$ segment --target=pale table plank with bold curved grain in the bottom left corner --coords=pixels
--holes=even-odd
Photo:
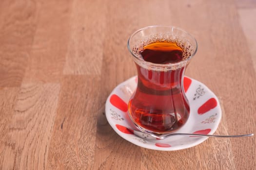
[[[13,113],[5,115],[9,120],[2,137],[8,149],[1,154],[7,167],[45,169],[58,96],[59,85],[21,86]]]

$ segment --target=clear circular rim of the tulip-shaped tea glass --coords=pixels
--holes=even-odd
[[[179,31],[181,31],[181,32],[183,32],[183,33],[185,33],[185,34],[187,34],[188,36],[190,36],[190,37],[195,41],[195,43],[196,43],[195,50],[193,51],[193,53],[192,53],[188,58],[186,58],[185,60],[181,60],[181,61],[179,61],[179,62],[177,62],[177,63],[156,64],[156,63],[151,63],[151,62],[145,61],[145,60],[143,60],[142,58],[139,58],[139,57],[131,50],[131,48],[130,48],[130,40],[131,40],[131,38],[132,38],[135,34],[141,32],[141,31],[143,31],[143,30],[147,30],[147,29],[149,29],[149,28],[156,28],[156,27],[158,27],[158,28],[160,28],[160,27],[162,27],[162,28],[171,28],[172,30],[173,30],[173,29],[176,29],[176,30],[179,30]],[[128,39],[128,41],[127,41],[127,48],[128,48],[128,50],[130,51],[130,53],[133,55],[133,58],[135,59],[135,62],[136,62],[136,63],[138,63],[138,62],[143,62],[144,65],[151,66],[151,67],[154,67],[154,68],[163,68],[163,67],[164,67],[164,68],[172,68],[172,67],[177,67],[177,66],[179,66],[179,65],[185,65],[185,64],[197,53],[197,40],[196,40],[196,38],[195,38],[194,36],[192,36],[191,34],[189,34],[188,32],[186,32],[185,30],[183,30],[183,29],[181,29],[181,28],[179,28],[179,27],[176,27],[176,26],[151,25],[151,26],[143,27],[143,28],[138,29],[137,31],[135,31],[135,32],[129,37],[129,39]]]

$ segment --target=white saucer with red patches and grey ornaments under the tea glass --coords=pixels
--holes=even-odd
[[[119,136],[143,148],[175,151],[202,143],[208,137],[173,136],[150,141],[135,136],[128,129],[136,129],[128,115],[127,103],[137,87],[137,76],[119,84],[106,101],[106,117]],[[177,133],[214,134],[221,119],[221,109],[216,95],[206,85],[184,78],[184,89],[190,104],[190,116]]]

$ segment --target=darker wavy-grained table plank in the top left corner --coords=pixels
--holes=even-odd
[[[30,0],[0,3],[0,86],[19,87],[36,31],[36,4]]]

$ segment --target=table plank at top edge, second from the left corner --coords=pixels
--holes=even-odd
[[[69,5],[68,0],[37,3],[37,27],[24,83],[60,82],[70,36]]]

